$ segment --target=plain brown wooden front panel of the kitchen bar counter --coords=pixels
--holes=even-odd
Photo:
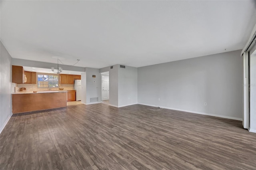
[[[12,113],[40,111],[67,106],[67,93],[13,94]]]

